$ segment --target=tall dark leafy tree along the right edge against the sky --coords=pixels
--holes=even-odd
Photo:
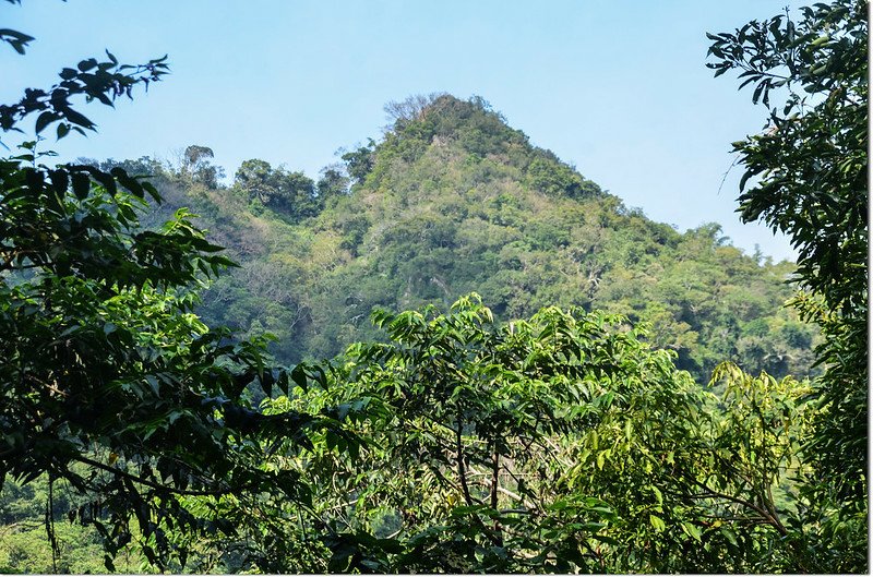
[[[822,327],[816,396],[822,413],[810,446],[830,503],[823,536],[847,560],[868,562],[868,2],[835,0],[710,35],[716,75],[742,71],[741,86],[770,110],[762,134],[734,143],[745,167],[740,214],[787,233],[798,249],[793,300]],[[774,92],[775,91],[775,92]],[[836,503],[842,501],[841,505]],[[824,541],[828,543],[828,541]],[[820,544],[818,546],[828,546]]]

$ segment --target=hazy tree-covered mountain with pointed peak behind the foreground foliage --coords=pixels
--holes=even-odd
[[[500,320],[548,304],[629,315],[706,383],[726,359],[757,373],[810,373],[814,330],[782,306],[788,262],[745,255],[708,224],[679,232],[534,146],[481,98],[386,106],[383,139],[318,182],[252,159],[229,188],[211,151],[156,173],[167,204],[201,215],[241,266],[204,293],[207,324],[272,333],[284,362],[331,358],[378,337],[374,306],[449,305],[476,291]],[[105,164],[110,168],[113,163]]]

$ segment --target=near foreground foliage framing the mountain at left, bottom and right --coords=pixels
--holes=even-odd
[[[136,206],[156,191],[123,170],[38,165],[28,144],[0,163],[0,467],[20,482],[4,500],[44,484],[52,570],[83,567],[80,550],[58,565],[60,538],[77,529],[56,525],[58,506],[101,531],[108,566],[135,542],[174,569],[220,555],[224,568],[267,572],[864,570],[866,293],[852,273],[866,272],[865,7],[838,0],[799,26],[714,38],[721,69],[757,82],[755,99],[777,64],[826,95],[809,108],[789,98],[784,116],[797,117],[774,112],[776,130],[738,146],[762,177],[744,215],[803,250],[811,296],[799,302],[829,337],[814,388],[721,364],[716,397],[623,317],[546,308],[500,324],[476,297],[447,314],[379,313],[386,342],[274,372],[259,342],[235,345],[191,314],[201,281],[229,263],[186,213],[143,231]],[[23,51],[29,37],[10,32],[0,39]],[[774,49],[790,58],[768,60]],[[154,80],[162,62],[139,72]],[[69,97],[129,94],[136,73],[117,68],[109,55],[65,69],[51,91],[1,107],[0,125],[38,112],[37,132],[93,128]],[[411,146],[395,152],[421,152]],[[189,168],[214,185],[204,155],[192,151]],[[558,194],[594,192],[575,184]],[[253,195],[279,206],[280,188]],[[286,395],[263,412],[247,401],[249,385],[268,396],[274,384]],[[4,501],[4,519],[26,525],[31,505]],[[28,531],[0,539],[12,545],[3,567],[31,567],[8,553],[29,546],[15,546]]]

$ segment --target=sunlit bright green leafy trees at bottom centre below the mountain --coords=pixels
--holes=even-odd
[[[808,385],[726,364],[719,399],[644,332],[581,309],[498,324],[473,294],[373,317],[387,342],[268,401],[336,407],[366,441],[358,460],[331,434],[292,459],[344,529],[310,570],[810,570],[790,480],[809,474]]]

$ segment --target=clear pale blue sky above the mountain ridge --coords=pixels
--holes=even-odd
[[[719,223],[750,253],[758,244],[793,259],[785,238],[734,213],[742,171],[729,171],[730,143],[758,132],[766,110],[730,74],[713,79],[705,68],[706,32],[786,3],[804,2],[0,2],[0,27],[36,37],[27,56],[0,52],[0,101],[48,87],[61,68],[107,48],[131,63],[168,53],[171,75],[148,94],[83,109],[97,134],[46,147],[62,160],[122,159],[201,144],[229,176],[262,158],[315,178],[338,148],[379,139],[385,103],[479,95],[627,206],[680,230]]]

